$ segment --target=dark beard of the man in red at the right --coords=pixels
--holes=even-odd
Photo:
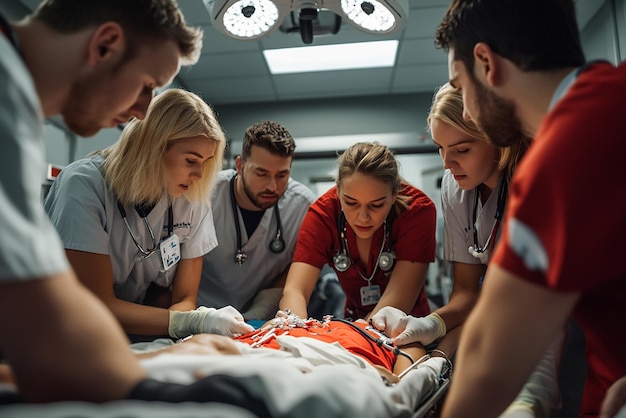
[[[528,137],[512,101],[498,97],[477,80],[474,80],[474,86],[474,105],[480,108],[476,124],[489,142],[497,147],[508,147]]]

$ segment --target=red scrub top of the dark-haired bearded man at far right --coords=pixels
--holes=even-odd
[[[624,92],[626,64],[593,65],[544,119],[513,176],[491,261],[581,294],[574,317],[586,337],[585,417],[598,415],[607,389],[626,375]]]

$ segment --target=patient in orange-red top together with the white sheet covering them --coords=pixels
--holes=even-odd
[[[313,400],[322,412],[340,408],[363,416],[366,408],[370,416],[407,416],[442,383],[447,361],[423,356],[421,347],[403,347],[403,354],[388,350],[384,340],[375,342],[361,333],[379,337],[365,323],[355,323],[357,330],[339,321],[304,322],[304,327],[266,328],[237,339],[200,334],[182,343],[162,339],[131,347],[153,379],[189,384],[206,375],[226,374],[263,393],[281,416],[308,411]],[[420,359],[398,381],[412,360]],[[340,390],[346,386],[353,389]],[[367,396],[357,400],[355,391]]]

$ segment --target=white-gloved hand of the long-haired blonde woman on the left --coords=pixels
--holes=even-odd
[[[200,306],[193,311],[170,311],[168,333],[173,338],[201,333],[234,337],[252,331],[254,327],[246,324],[239,311],[230,305],[220,309]]]

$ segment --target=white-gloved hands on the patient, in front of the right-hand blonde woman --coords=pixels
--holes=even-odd
[[[392,306],[376,312],[372,316],[372,325],[384,331],[397,346],[414,342],[428,345],[446,335],[446,323],[437,313],[416,318]]]

